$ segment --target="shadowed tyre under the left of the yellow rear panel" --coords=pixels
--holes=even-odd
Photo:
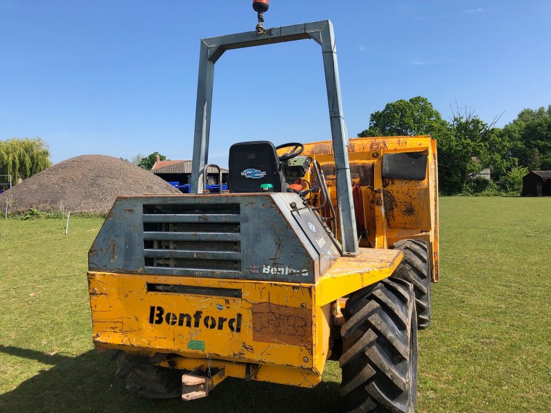
[[[112,359],[117,363],[115,375],[126,379],[126,388],[146,399],[172,399],[182,395],[182,373],[147,363],[134,362],[123,350],[116,350]]]

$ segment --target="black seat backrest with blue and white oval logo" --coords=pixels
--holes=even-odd
[[[273,192],[287,191],[278,153],[272,142],[239,142],[229,148],[230,192],[262,192],[261,184],[272,184]]]

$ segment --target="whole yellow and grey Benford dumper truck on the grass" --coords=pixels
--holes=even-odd
[[[228,190],[206,193],[216,61],[300,39],[322,48],[332,139],[238,142]],[[435,140],[349,140],[330,21],[202,39],[195,125],[191,193],[118,198],[90,248],[94,343],[117,376],[191,400],[226,377],[313,387],[334,359],[345,412],[413,412],[439,275]]]

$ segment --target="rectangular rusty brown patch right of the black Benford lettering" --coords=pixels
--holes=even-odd
[[[255,303],[252,313],[253,341],[312,346],[312,313],[309,308]]]

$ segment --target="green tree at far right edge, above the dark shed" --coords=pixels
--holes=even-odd
[[[523,109],[503,127],[510,142],[510,157],[530,170],[551,170],[551,105],[547,109]]]

